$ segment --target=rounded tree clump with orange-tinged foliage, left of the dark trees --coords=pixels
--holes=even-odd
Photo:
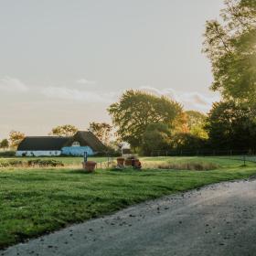
[[[118,141],[144,155],[156,150],[200,147],[208,139],[206,115],[184,112],[181,104],[164,96],[126,91],[108,111]]]

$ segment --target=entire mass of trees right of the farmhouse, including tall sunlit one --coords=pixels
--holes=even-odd
[[[133,149],[251,150],[256,146],[256,1],[226,0],[220,21],[207,22],[204,53],[211,90],[222,99],[208,115],[184,112],[175,101],[126,91],[109,112],[117,133]]]

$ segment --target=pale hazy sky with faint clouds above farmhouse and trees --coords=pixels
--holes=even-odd
[[[0,138],[111,122],[139,89],[208,112],[205,23],[223,0],[0,0]]]

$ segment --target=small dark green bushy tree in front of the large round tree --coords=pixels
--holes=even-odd
[[[142,151],[144,155],[150,155],[158,150],[168,150],[170,148],[171,132],[165,123],[148,124],[144,135]]]

